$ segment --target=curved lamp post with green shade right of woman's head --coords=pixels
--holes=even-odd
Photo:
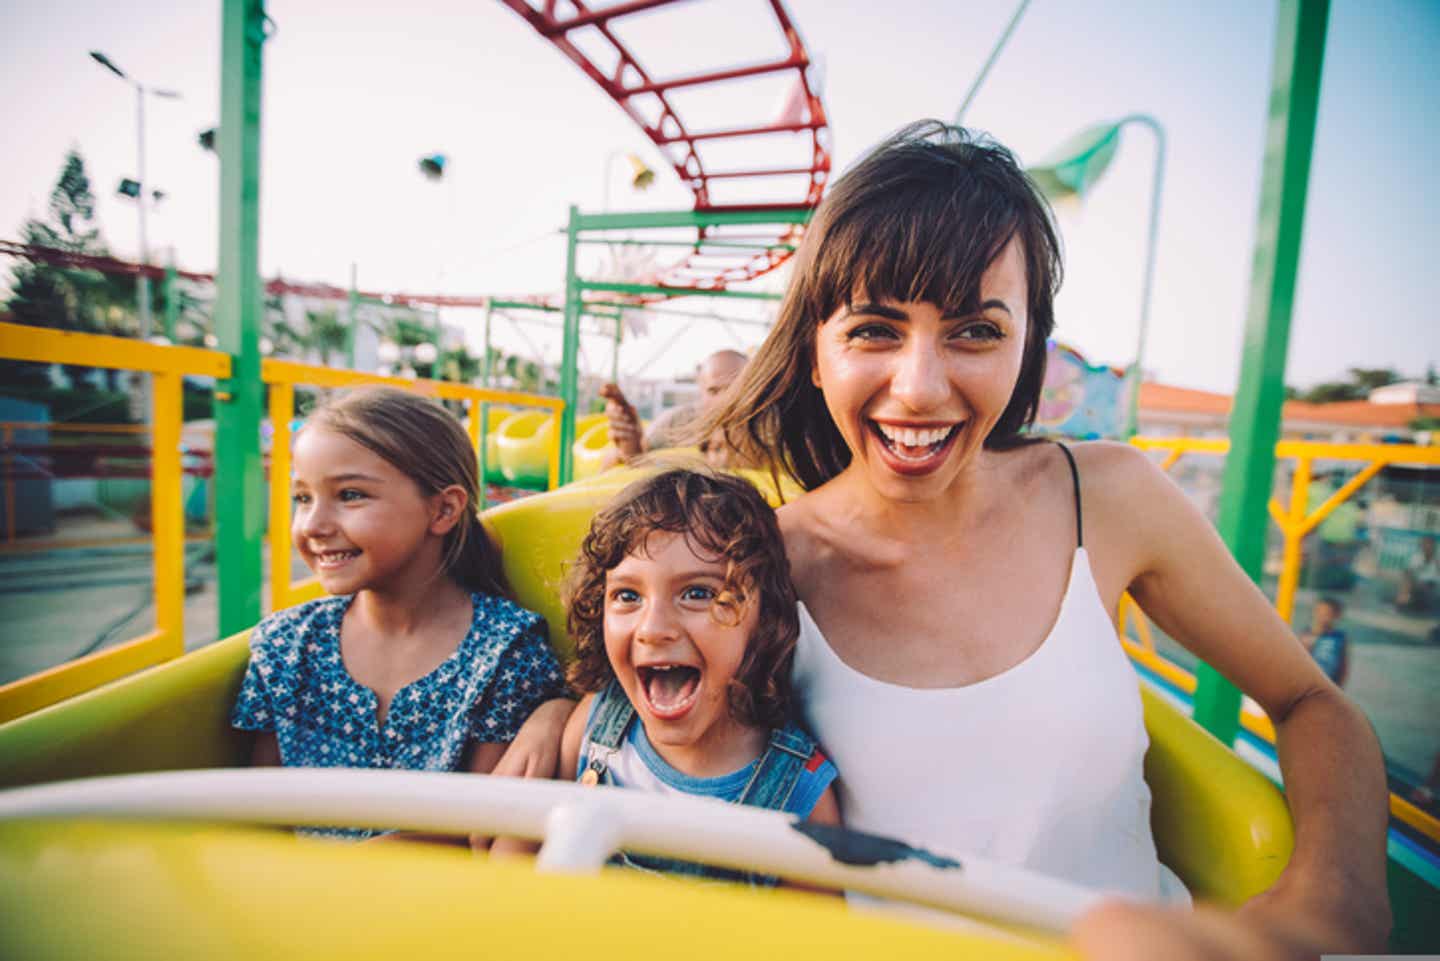
[[[1151,330],[1151,292],[1155,285],[1155,251],[1159,242],[1161,189],[1165,183],[1165,128],[1149,114],[1130,114],[1110,124],[1089,127],[1058,148],[1040,164],[1030,169],[1030,176],[1041,190],[1053,199],[1084,197],[1093,187],[1120,144],[1120,130],[1129,124],[1148,127],[1155,134],[1155,177],[1151,183],[1151,223],[1145,241],[1145,278],[1140,285],[1140,330],[1135,344],[1135,360],[1126,377],[1129,401],[1125,416],[1125,435],[1135,437],[1140,421],[1140,379],[1145,362],[1145,341]]]

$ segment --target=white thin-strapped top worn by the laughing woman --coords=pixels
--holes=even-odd
[[[1040,648],[965,687],[876,680],[835,654],[804,604],[799,621],[795,690],[840,769],[847,827],[1187,899],[1155,854],[1139,683],[1084,547]]]

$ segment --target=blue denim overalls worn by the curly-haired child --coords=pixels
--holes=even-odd
[[[590,728],[586,732],[586,769],[590,778],[586,782],[611,784],[609,765],[605,759],[621,749],[629,726],[635,723],[635,707],[625,696],[619,681],[612,680],[595,699],[595,713],[590,718]],[[816,749],[815,739],[801,730],[796,725],[788,723],[782,729],[770,732],[770,741],[755,765],[755,774],[744,785],[734,804],[749,804],[750,807],[783,811],[795,790],[795,782],[805,771],[805,764]],[[667,857],[642,857],[621,852],[612,864],[625,864],[649,873],[680,875],[685,877],[706,877],[716,880],[732,880],[753,885],[756,888],[773,888],[779,877],[770,875],[753,875],[749,872],[734,872],[723,867],[710,867],[693,862],[677,862]]]

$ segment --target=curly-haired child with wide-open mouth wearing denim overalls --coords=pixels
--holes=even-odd
[[[588,694],[562,736],[564,777],[840,823],[835,765],[795,720],[795,591],[775,511],[755,487],[691,470],[635,481],[592,522],[569,594],[570,681]]]

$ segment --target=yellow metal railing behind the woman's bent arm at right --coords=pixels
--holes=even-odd
[[[1162,470],[1169,470],[1187,454],[1225,454],[1230,441],[1223,438],[1153,438],[1136,437],[1130,441],[1145,451],[1165,451],[1161,461]],[[1410,444],[1325,444],[1318,441],[1280,441],[1274,447],[1276,460],[1295,460],[1295,474],[1290,478],[1290,504],[1282,506],[1270,499],[1270,517],[1284,537],[1283,560],[1280,565],[1280,579],[1276,588],[1276,611],[1290,622],[1295,617],[1295,594],[1300,585],[1302,546],[1305,537],[1313,532],[1336,507],[1349,500],[1355,491],[1365,486],[1375,474],[1390,464],[1440,467],[1440,447],[1416,447]],[[1335,493],[1326,497],[1319,506],[1310,509],[1309,488],[1315,461],[1352,461],[1362,467],[1354,477],[1342,484]],[[1140,611],[1135,599],[1125,594],[1120,598],[1116,624],[1120,634],[1120,644],[1125,651],[1138,663],[1175,684],[1188,694],[1195,693],[1195,676],[1166,660],[1155,650],[1155,640],[1151,634],[1149,621]],[[1133,627],[1136,638],[1130,640]],[[1246,730],[1274,743],[1274,725],[1264,712],[1246,706],[1240,713],[1240,723]],[[1440,820],[1410,804],[1404,798],[1390,795],[1390,813],[1426,834],[1431,840],[1440,841]]]

